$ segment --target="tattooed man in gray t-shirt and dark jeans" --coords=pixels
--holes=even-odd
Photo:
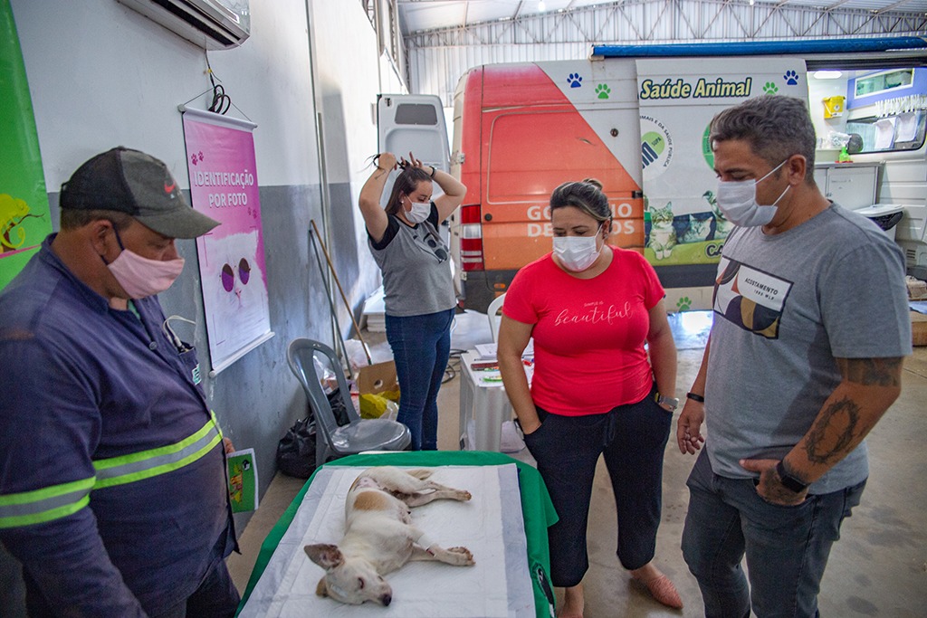
[[[898,397],[911,352],[904,258],[819,192],[801,100],[730,107],[710,144],[718,208],[738,227],[679,417],[683,453],[705,442],[687,483],[683,555],[706,616],[814,616],[869,475],[864,438]]]

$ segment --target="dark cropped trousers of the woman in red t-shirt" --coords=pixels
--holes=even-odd
[[[541,425],[525,443],[560,516],[548,530],[554,586],[576,586],[589,569],[586,526],[599,455],[615,494],[618,560],[626,569],[638,569],[654,559],[673,415],[653,396],[651,391],[638,403],[589,416],[538,409]]]

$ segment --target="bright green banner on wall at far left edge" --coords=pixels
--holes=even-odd
[[[8,0],[0,0],[0,290],[51,231],[19,36]]]

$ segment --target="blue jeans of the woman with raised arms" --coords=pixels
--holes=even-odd
[[[400,381],[397,421],[409,427],[413,450],[438,449],[438,390],[451,357],[454,309],[386,316],[387,341]]]

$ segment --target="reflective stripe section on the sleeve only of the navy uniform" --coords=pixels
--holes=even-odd
[[[95,477],[0,496],[0,528],[50,522],[80,511],[90,501]]]

